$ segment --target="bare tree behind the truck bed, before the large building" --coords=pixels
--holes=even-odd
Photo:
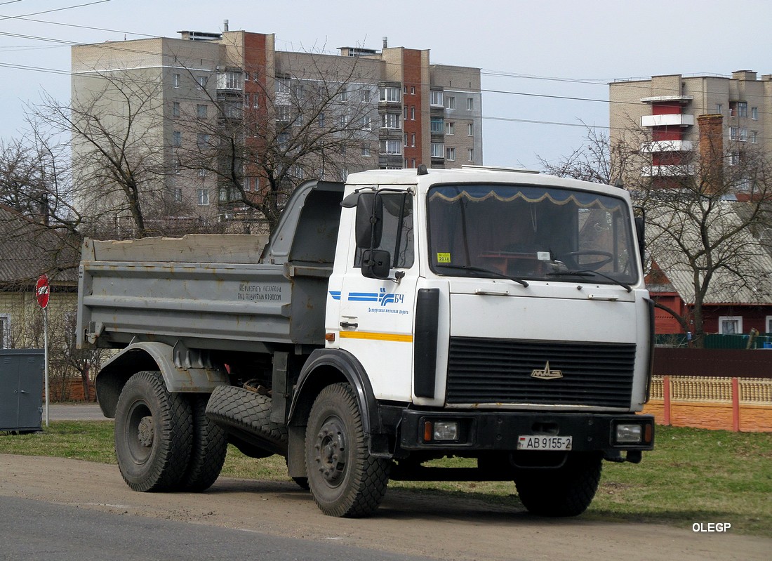
[[[282,53],[274,76],[252,68],[219,73],[207,109],[198,105],[180,121],[198,139],[178,150],[180,165],[216,178],[222,213],[257,214],[273,229],[303,179],[340,181],[374,167],[378,89],[361,65],[317,54],[301,64]]]

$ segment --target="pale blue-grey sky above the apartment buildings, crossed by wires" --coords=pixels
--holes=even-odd
[[[276,34],[276,48],[430,49],[482,69],[486,165],[539,168],[608,126],[608,82],[657,74],[772,73],[769,0],[0,0],[0,138],[18,137],[42,90],[69,98],[69,47],[178,37],[181,29]],[[765,66],[766,65],[766,66]]]

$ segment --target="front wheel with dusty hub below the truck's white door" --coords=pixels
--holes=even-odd
[[[306,472],[313,500],[329,516],[371,515],[386,494],[391,461],[372,457],[348,384],[324,388],[306,428]]]

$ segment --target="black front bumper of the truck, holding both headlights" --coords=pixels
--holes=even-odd
[[[571,437],[571,450],[652,450],[654,416],[631,413],[404,410],[402,450],[517,450],[521,437]],[[639,457],[639,454],[637,454]]]

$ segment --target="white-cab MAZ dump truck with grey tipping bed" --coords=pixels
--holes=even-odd
[[[78,336],[120,349],[96,378],[120,472],[202,491],[230,442],[286,457],[327,515],[371,515],[390,478],[578,515],[604,460],[654,444],[642,223],[608,185],[421,167],[304,182],[267,243],[86,240]]]

